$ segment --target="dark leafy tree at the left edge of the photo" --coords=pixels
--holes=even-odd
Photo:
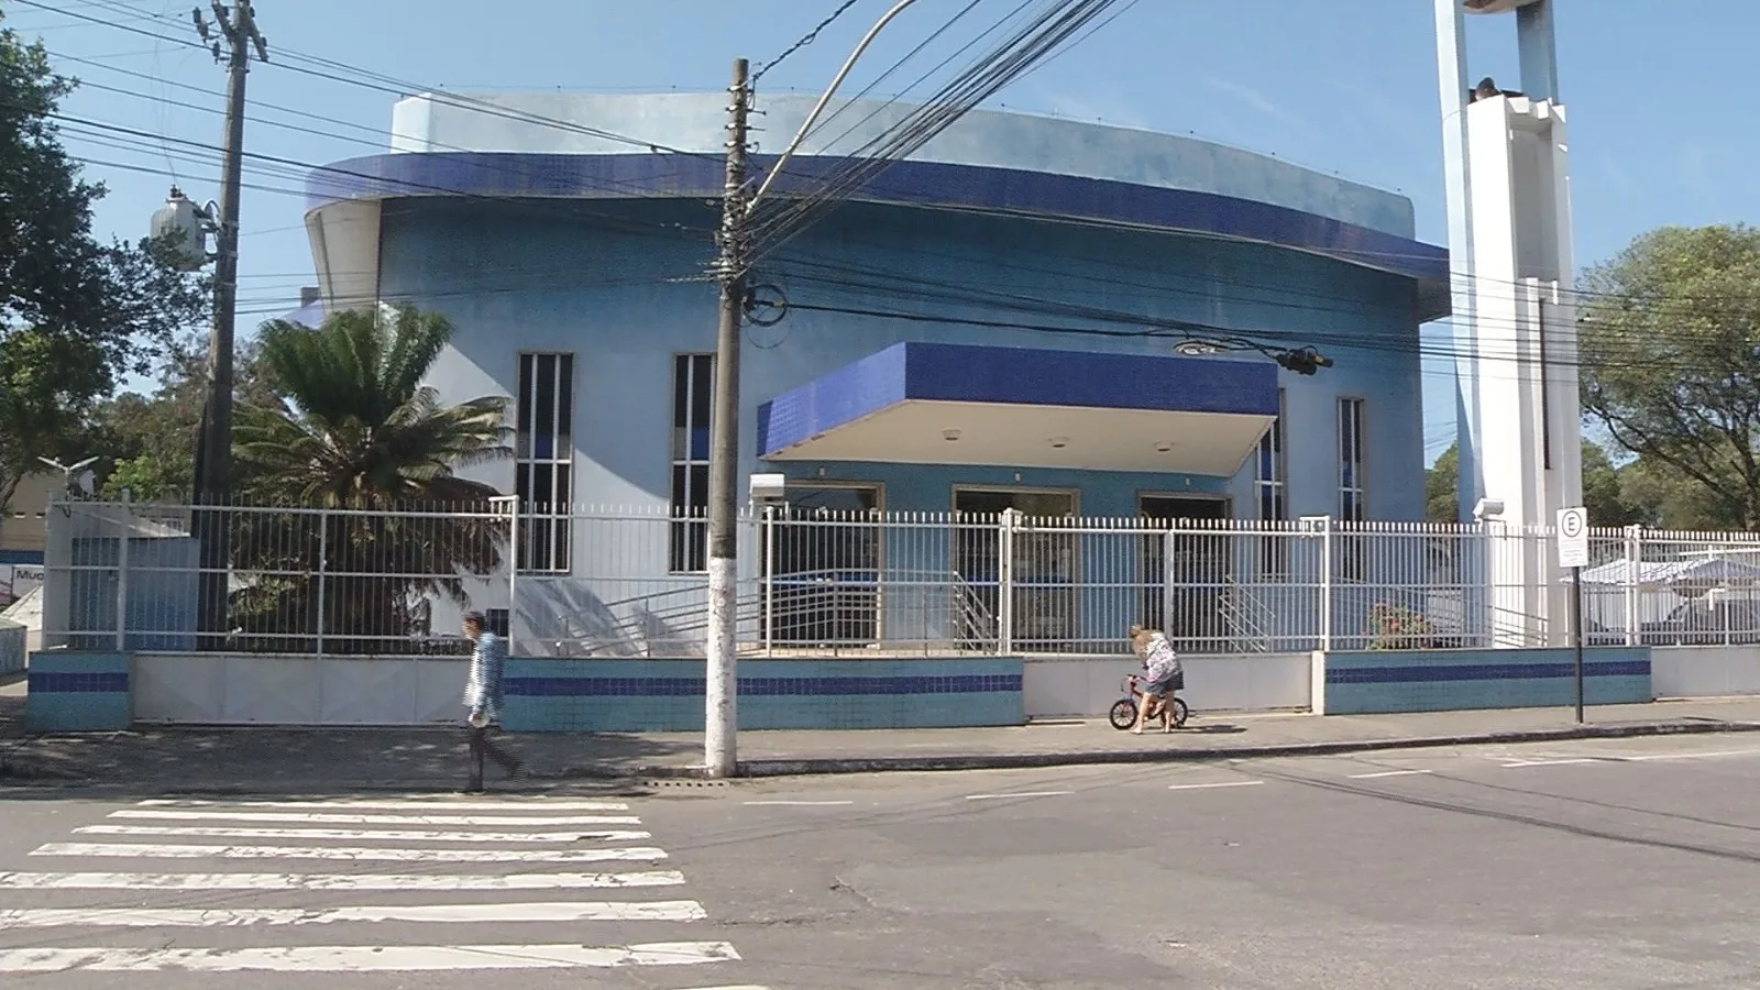
[[[201,321],[206,285],[162,264],[164,243],[99,243],[55,127],[74,81],[40,44],[0,28],[0,509],[42,456],[83,456],[93,407]]]

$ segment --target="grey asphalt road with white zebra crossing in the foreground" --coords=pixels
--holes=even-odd
[[[1756,777],[1732,735],[630,796],[11,794],[0,985],[1746,990]]]

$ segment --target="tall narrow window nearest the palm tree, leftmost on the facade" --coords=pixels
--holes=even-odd
[[[519,356],[514,493],[521,571],[568,571],[574,502],[574,354]]]

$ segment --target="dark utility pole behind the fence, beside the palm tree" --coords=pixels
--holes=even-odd
[[[208,402],[195,447],[195,500],[220,504],[227,499],[232,474],[232,324],[238,308],[238,199],[245,160],[245,79],[252,51],[269,60],[269,42],[257,32],[257,11],[250,0],[236,0],[231,11],[211,0],[215,25],[194,11],[195,33],[213,48],[215,62],[225,58],[225,150],[220,173],[220,217],[215,231],[215,315],[208,333]],[[218,35],[218,37],[216,37]],[[222,44],[224,42],[224,44]],[[224,513],[204,513],[202,548],[202,632],[227,631],[227,525]],[[213,643],[220,645],[220,643]]]

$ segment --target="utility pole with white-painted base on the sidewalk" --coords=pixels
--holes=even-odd
[[[722,321],[715,342],[715,407],[709,417],[709,643],[704,703],[704,766],[732,777],[737,754],[737,615],[739,608],[739,345],[746,308],[746,115],[752,86],[744,58],[734,60],[727,88],[727,185],[722,197]]]

